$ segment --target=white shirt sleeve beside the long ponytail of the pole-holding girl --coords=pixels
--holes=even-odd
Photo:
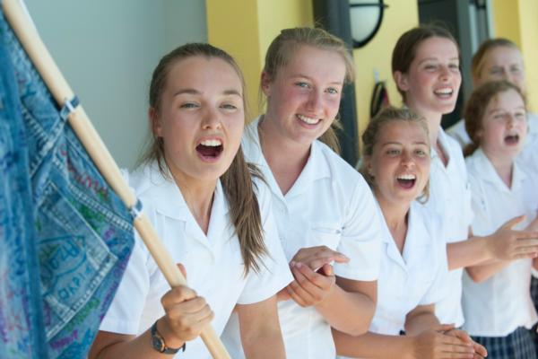
[[[271,194],[261,181],[257,181],[256,186],[267,255],[262,257],[259,272],[248,272],[247,283],[239,296],[238,304],[265,301],[293,280],[274,222]]]

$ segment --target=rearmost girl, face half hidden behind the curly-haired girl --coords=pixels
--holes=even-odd
[[[509,39],[487,39],[482,42],[473,56],[471,73],[475,87],[488,81],[506,80],[514,83],[521,92],[526,92],[523,57],[517,45]],[[531,128],[529,133],[531,138],[528,140],[534,142],[534,137],[538,136],[538,116],[527,113],[527,117]],[[464,119],[448,128],[447,134],[454,137],[462,147],[471,143],[471,138],[465,130]]]

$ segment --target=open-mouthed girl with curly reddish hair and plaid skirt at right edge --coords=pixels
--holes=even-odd
[[[513,217],[515,228],[538,227],[538,174],[514,160],[525,144],[525,100],[506,81],[482,84],[465,109],[472,143],[465,159],[473,193],[473,232],[489,235]],[[529,224],[530,223],[530,224]],[[534,257],[538,256],[538,252]],[[535,359],[530,333],[538,316],[529,293],[531,259],[490,260],[467,267],[464,328],[495,359]]]

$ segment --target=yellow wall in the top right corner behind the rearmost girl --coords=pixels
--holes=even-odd
[[[494,0],[494,36],[511,39],[525,61],[529,109],[538,111],[538,1]]]

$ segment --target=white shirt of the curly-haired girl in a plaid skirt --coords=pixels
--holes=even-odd
[[[473,232],[489,235],[517,215],[527,215],[525,226],[538,210],[538,178],[515,164],[512,188],[499,178],[490,160],[478,149],[466,159],[473,188]],[[464,329],[473,336],[505,337],[518,327],[531,328],[538,317],[531,299],[531,259],[513,261],[508,267],[476,284],[464,274]]]

